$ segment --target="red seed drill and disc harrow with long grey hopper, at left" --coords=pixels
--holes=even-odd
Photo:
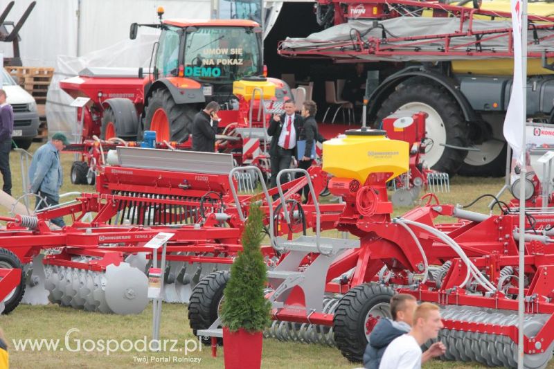
[[[261,194],[238,191],[235,174],[256,172],[260,179],[262,172],[253,166],[233,168],[231,154],[121,146],[108,157],[111,164],[100,170],[97,192],[33,216],[1,217],[7,222],[0,231],[5,313],[21,300],[33,305],[49,300],[103,313],[143,311],[152,264],[152,250],[145,243],[160,232],[174,233],[167,245],[164,299],[188,303],[196,283],[212,271],[227,269],[242,249],[240,238],[253,201],[262,203],[270,235],[292,238],[316,226],[315,197],[302,204],[297,194],[307,184],[305,177],[286,183],[280,202],[271,199],[278,189],[266,190],[264,181]],[[308,177],[316,192],[325,188],[327,175],[321,168],[310,169]],[[322,206],[318,225],[333,228],[343,206]],[[71,226],[48,226],[48,219],[63,216],[71,217]],[[266,246],[263,252],[272,267],[274,248]]]

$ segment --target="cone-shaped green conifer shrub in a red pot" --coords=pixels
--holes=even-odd
[[[262,332],[271,323],[271,303],[264,297],[266,267],[260,244],[262,210],[251,206],[242,234],[242,252],[231,266],[221,312],[225,368],[260,368]]]

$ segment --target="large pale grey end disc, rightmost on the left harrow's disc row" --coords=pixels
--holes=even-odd
[[[126,262],[108,265],[105,300],[115,314],[140,314],[148,305],[148,278]]]

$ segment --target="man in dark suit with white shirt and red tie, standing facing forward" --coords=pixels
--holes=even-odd
[[[275,114],[267,129],[267,134],[271,136],[271,146],[269,147],[271,188],[277,186],[277,173],[290,168],[296,141],[298,141],[298,135],[304,124],[302,116],[294,113],[294,101],[287,100],[283,108],[285,114]],[[281,178],[281,183],[285,183],[285,181],[284,178]]]

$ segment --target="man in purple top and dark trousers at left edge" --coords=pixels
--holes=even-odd
[[[4,180],[2,190],[12,195],[10,150],[12,150],[13,110],[6,102],[6,98],[6,91],[0,89],[0,172]]]

